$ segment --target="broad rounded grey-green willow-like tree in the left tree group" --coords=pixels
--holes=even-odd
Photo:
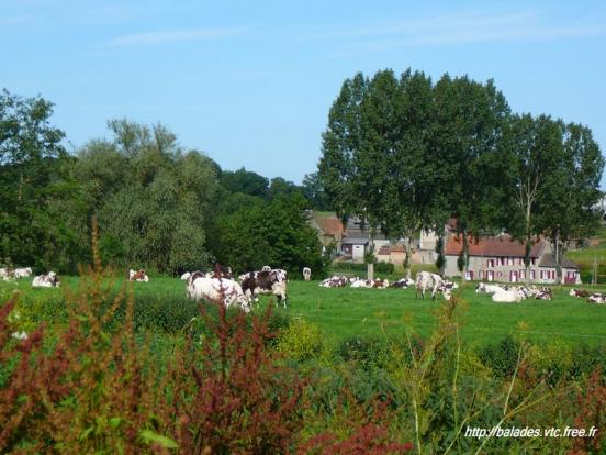
[[[184,153],[161,125],[115,120],[110,127],[114,141],[89,143],[77,164],[103,259],[167,273],[210,266],[205,226],[218,185],[212,162]]]

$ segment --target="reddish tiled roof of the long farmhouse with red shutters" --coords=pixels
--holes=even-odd
[[[482,237],[480,241],[469,237],[470,256],[507,256],[524,257],[526,246],[523,242],[514,241],[510,235],[503,234],[494,237]],[[530,248],[530,257],[539,257],[545,241],[540,238],[535,242]],[[451,235],[446,244],[445,254],[458,256],[463,249],[463,238],[461,235]]]

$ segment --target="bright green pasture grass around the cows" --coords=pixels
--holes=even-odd
[[[63,286],[75,288],[78,279],[65,277]],[[3,297],[16,287],[37,298],[63,292],[61,289],[32,289],[30,280],[0,286]],[[460,309],[461,337],[471,343],[497,342],[508,333],[519,334],[520,323],[524,323],[528,339],[539,343],[606,343],[606,306],[571,298],[569,289],[554,288],[551,302],[526,300],[506,304],[493,303],[490,296],[476,295],[474,285],[468,285],[460,289],[464,301]],[[152,277],[150,282],[135,282],[134,291],[154,301],[166,298],[175,302],[184,296],[184,282],[177,278]],[[262,298],[263,302],[269,300],[270,297]],[[327,289],[321,288],[317,281],[291,281],[288,304],[287,309],[280,307],[277,311],[318,324],[330,342],[338,343],[357,335],[399,335],[404,333],[405,324],[426,335],[436,325],[434,314],[439,300],[415,300],[414,289]]]

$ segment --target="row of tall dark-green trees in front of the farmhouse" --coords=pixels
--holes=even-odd
[[[467,271],[469,242],[503,231],[526,241],[527,268],[538,236],[553,244],[561,265],[569,242],[595,231],[603,169],[587,126],[513,113],[492,80],[446,74],[433,81],[407,69],[345,80],[317,178],[341,218],[361,217],[371,232],[406,238],[407,256],[414,235],[442,233],[456,218],[458,265]],[[438,244],[444,267],[444,238]]]

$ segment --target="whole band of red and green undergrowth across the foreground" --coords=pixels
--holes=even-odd
[[[0,308],[4,453],[601,453],[606,346],[460,342],[461,301],[428,337],[337,346],[304,320],[157,301],[99,265],[75,291]],[[524,328],[521,328],[524,329]],[[26,340],[12,336],[27,332]],[[468,426],[594,437],[465,436]]]

